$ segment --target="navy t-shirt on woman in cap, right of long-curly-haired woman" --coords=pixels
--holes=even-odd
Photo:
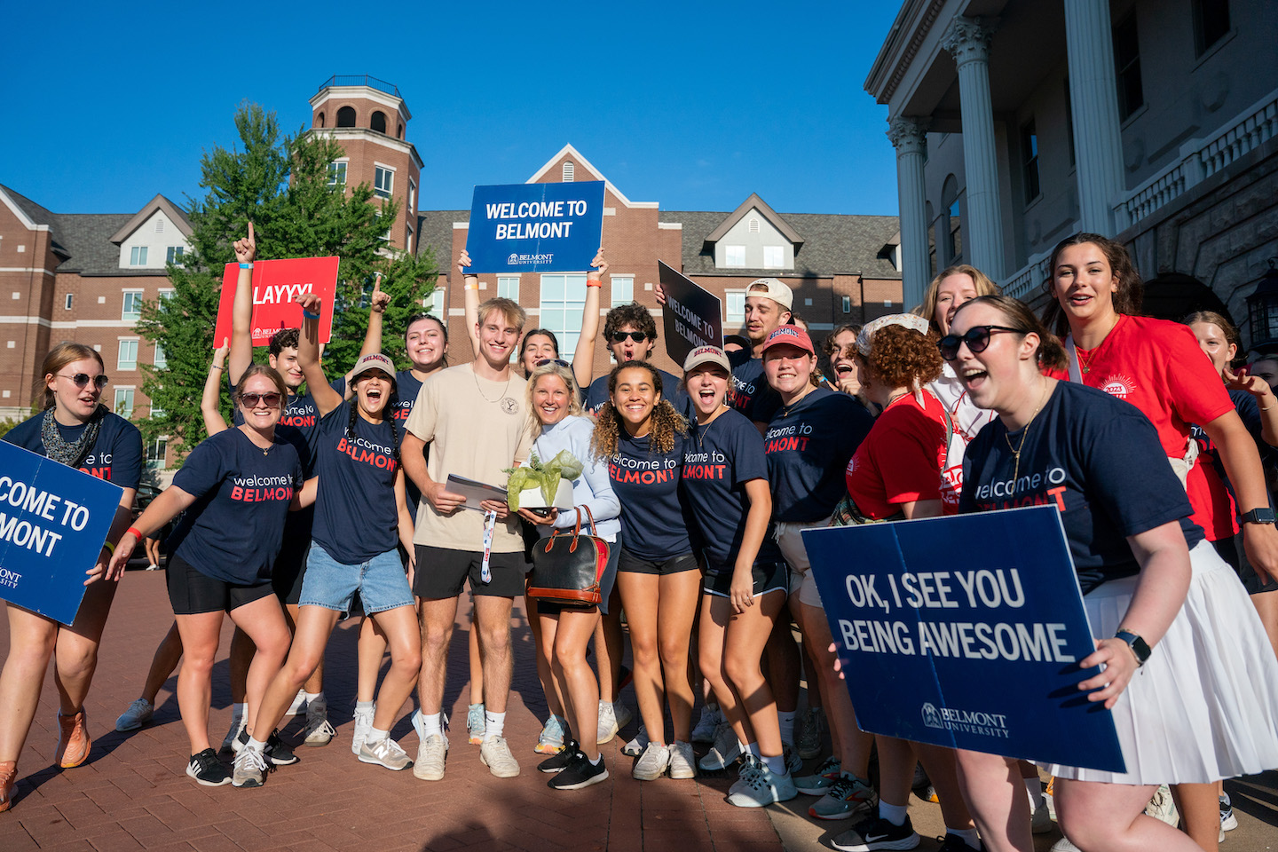
[[[745,483],[751,479],[768,482],[768,460],[759,430],[744,414],[728,410],[709,425],[693,423],[684,445],[684,492],[711,570],[735,566],[750,510]],[[780,561],[769,531],[755,562]]]

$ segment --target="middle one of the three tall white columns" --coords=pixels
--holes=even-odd
[[[994,281],[1003,278],[1003,225],[998,208],[998,157],[994,107],[989,97],[989,37],[997,22],[957,17],[941,46],[958,65],[962,160],[967,184],[971,264]]]

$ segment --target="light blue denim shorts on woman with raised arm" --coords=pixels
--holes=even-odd
[[[312,542],[298,605],[349,613],[350,600],[357,591],[367,614],[412,607],[413,590],[408,586],[408,574],[400,562],[399,551],[378,553],[359,565],[344,565],[332,558],[318,542]]]

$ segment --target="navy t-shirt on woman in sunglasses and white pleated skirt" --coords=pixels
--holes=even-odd
[[[1019,470],[1008,439],[1021,447]],[[967,445],[962,468],[960,512],[1039,505],[1061,511],[1084,594],[1140,571],[1128,535],[1180,521],[1191,548],[1203,540],[1154,425],[1097,388],[1057,382],[1028,432],[1008,434],[996,419]]]

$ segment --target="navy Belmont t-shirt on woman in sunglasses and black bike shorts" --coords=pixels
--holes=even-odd
[[[196,502],[169,536],[169,551],[215,580],[267,582],[302,483],[298,451],[280,436],[265,452],[238,428],[206,438],[173,478]]]

